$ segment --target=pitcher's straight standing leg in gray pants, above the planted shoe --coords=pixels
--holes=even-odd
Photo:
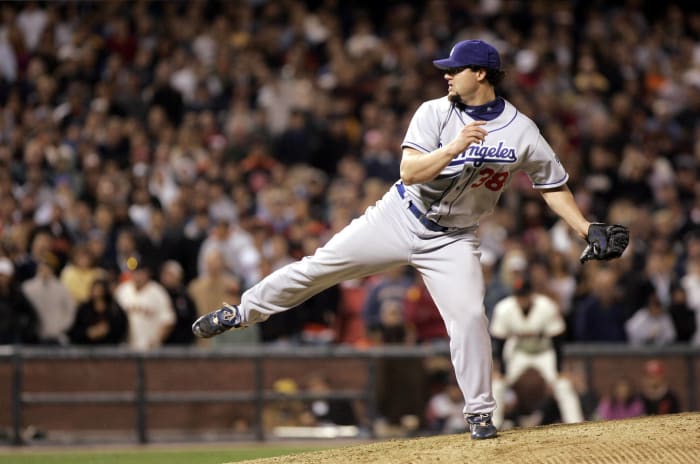
[[[484,312],[484,281],[476,240],[444,237],[445,244],[411,257],[440,310],[450,337],[465,414],[492,413],[492,353]]]

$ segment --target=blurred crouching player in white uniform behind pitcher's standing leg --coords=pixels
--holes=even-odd
[[[500,361],[501,373],[493,393],[504,404],[508,386],[514,384],[528,368],[535,369],[547,382],[566,423],[583,421],[581,403],[572,383],[559,376],[560,336],[566,329],[557,303],[548,296],[533,293],[527,278],[519,277],[513,295],[499,301],[491,317],[491,335]],[[496,408],[494,424],[503,423],[504,408]]]

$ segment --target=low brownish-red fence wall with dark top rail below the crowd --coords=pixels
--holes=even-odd
[[[7,426],[16,445],[25,443],[26,423],[41,421],[62,429],[130,429],[139,443],[148,443],[154,441],[155,429],[194,430],[219,423],[217,411],[231,406],[229,411],[250,419],[250,438],[262,441],[268,438],[263,427],[265,405],[282,398],[359,402],[366,422],[372,424],[378,402],[387,401],[378,392],[379,384],[386,381],[382,377],[391,376],[384,372],[388,362],[403,360],[404,372],[418,371],[425,360],[448,355],[446,345],[363,350],[168,347],[146,353],[122,348],[5,346],[0,347],[0,425]],[[607,391],[619,376],[639,377],[646,360],[662,359],[683,410],[698,408],[698,348],[569,345],[565,358],[567,369],[578,371],[587,389],[597,392]],[[280,377],[300,378],[312,370],[331,377],[333,390],[323,395],[281,394],[272,388]],[[413,387],[410,379],[404,382],[406,390]],[[87,419],[79,417],[80,408],[89,409]],[[371,427],[368,431],[372,436]]]

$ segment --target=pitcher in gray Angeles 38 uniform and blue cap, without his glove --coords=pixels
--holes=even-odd
[[[200,317],[192,330],[211,337],[286,311],[342,280],[410,265],[421,273],[445,320],[471,437],[496,436],[491,338],[476,229],[511,175],[525,170],[546,203],[582,237],[590,223],[565,186],[568,176],[531,120],[496,98],[498,51],[459,42],[433,64],[448,95],[424,103],[402,144],[401,181],[313,256],[273,272],[239,306]]]

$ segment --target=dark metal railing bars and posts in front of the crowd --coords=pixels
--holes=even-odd
[[[571,344],[565,347],[565,359],[568,363],[578,363],[585,375],[589,390],[599,390],[610,375],[624,365],[625,358],[644,361],[651,358],[672,360],[675,385],[683,390],[684,409],[695,411],[698,407],[698,372],[700,372],[700,348],[687,345],[668,347],[630,347],[628,345],[583,345]],[[392,359],[426,359],[434,356],[449,356],[447,344],[426,346],[379,346],[355,349],[347,346],[231,346],[217,349],[193,347],[164,347],[148,352],[135,352],[122,347],[36,347],[36,346],[0,346],[0,376],[9,380],[10,401],[9,419],[10,441],[15,445],[26,444],[23,439],[25,409],[31,406],[70,406],[70,405],[126,405],[135,411],[133,427],[139,443],[153,441],[150,437],[147,409],[159,404],[227,404],[247,403],[252,405],[255,420],[253,437],[263,441],[267,439],[263,427],[263,410],[268,402],[286,399],[308,401],[313,399],[345,399],[360,401],[364,405],[365,416],[369,423],[377,417],[377,382],[380,362]],[[135,370],[132,388],[123,391],[55,391],[52,385],[42,385],[28,391],[25,386],[27,364],[36,361],[58,363],[61,361],[104,361],[117,360],[127,363]],[[297,391],[280,394],[266,386],[271,379],[266,363],[271,361],[301,362],[304,360],[332,360],[342,369],[343,360],[360,361],[364,372],[358,373],[364,379],[364,386],[355,389],[333,389],[327,394],[314,394]],[[599,361],[607,364],[602,366]],[[151,391],[147,388],[149,374],[147,363],[177,361],[194,363],[198,361],[236,361],[252,364],[252,379],[247,379],[252,388],[244,391],[212,391],[204,386],[190,391]],[[606,367],[607,366],[607,367]],[[2,370],[4,369],[4,370]],[[267,372],[266,372],[267,371]],[[4,374],[3,374],[4,372]],[[79,375],[79,373],[77,373]],[[216,375],[211,373],[209,375]],[[251,382],[252,380],[252,382]],[[407,388],[410,388],[408,386]],[[369,429],[372,436],[372,429]]]

